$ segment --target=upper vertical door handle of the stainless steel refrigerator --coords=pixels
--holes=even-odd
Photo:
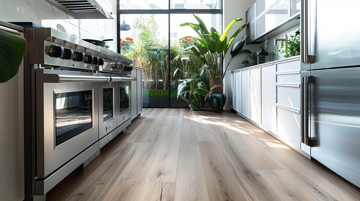
[[[301,33],[300,33],[300,61],[303,64],[312,64],[315,62],[315,56],[309,55],[309,7],[308,0],[301,0]]]

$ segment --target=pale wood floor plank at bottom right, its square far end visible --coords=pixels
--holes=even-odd
[[[317,199],[303,188],[285,170],[258,170],[267,184],[284,201],[317,201]]]

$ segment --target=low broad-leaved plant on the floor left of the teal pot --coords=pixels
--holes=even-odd
[[[206,96],[209,91],[201,79],[185,79],[177,87],[177,98],[179,97],[189,104],[192,110],[201,107],[201,96]]]

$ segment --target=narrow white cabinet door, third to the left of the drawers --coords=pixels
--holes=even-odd
[[[241,71],[241,109],[242,114],[250,118],[250,71]]]

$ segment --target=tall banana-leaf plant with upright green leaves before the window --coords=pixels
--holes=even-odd
[[[224,34],[220,36],[220,33],[216,31],[215,28],[211,28],[210,31],[206,28],[204,22],[194,15],[195,19],[199,22],[199,24],[185,22],[180,24],[181,27],[190,26],[194,29],[199,37],[186,36],[184,38],[194,38],[196,41],[193,46],[187,47],[185,50],[190,51],[189,55],[197,61],[199,64],[202,64],[201,72],[206,70],[210,70],[211,76],[213,79],[223,79],[225,73],[222,73],[222,64],[224,60],[224,56],[229,50],[229,47],[235,37],[246,28],[249,23],[242,25],[230,38],[228,38],[227,34],[229,29],[236,23],[243,19],[237,18],[234,19],[228,27],[226,27]],[[181,38],[181,39],[184,39]],[[180,40],[181,40],[180,39]],[[242,48],[242,47],[241,47]],[[240,50],[240,53],[251,53],[250,50]],[[222,55],[222,56],[221,56]],[[226,71],[224,71],[226,72]]]

